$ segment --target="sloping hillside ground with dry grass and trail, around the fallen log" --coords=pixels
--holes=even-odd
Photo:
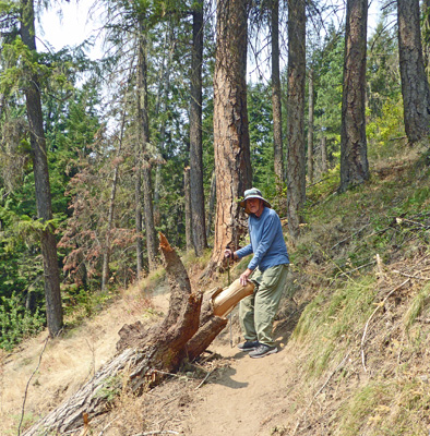
[[[252,360],[231,348],[230,339],[240,340],[234,313],[231,337],[224,331],[199,362],[141,397],[116,392],[111,409],[87,429],[100,436],[427,436],[430,177],[426,153],[404,152],[373,162],[366,186],[338,195],[333,174],[310,190],[303,235],[289,246],[277,354]],[[16,434],[25,392],[22,427],[114,354],[122,324],[159,319],[168,290],[163,280],[154,288],[124,291],[45,350],[46,334],[2,354],[0,433]]]

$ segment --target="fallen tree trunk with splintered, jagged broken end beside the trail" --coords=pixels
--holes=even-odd
[[[124,325],[119,331],[118,354],[69,400],[33,427],[24,436],[63,434],[83,425],[107,411],[109,400],[124,388],[139,393],[154,386],[164,373],[176,372],[182,361],[199,356],[224,329],[225,315],[237,302],[253,292],[253,284],[217,289],[203,299],[191,290],[187,271],[175,252],[160,234],[160,249],[171,294],[165,319],[150,328],[138,322]],[[239,300],[238,300],[239,299]]]

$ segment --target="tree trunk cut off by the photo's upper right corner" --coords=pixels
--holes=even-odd
[[[398,56],[405,131],[410,143],[429,134],[430,88],[422,59],[419,1],[397,0]]]

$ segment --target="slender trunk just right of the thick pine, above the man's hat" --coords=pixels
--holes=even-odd
[[[279,199],[284,187],[283,113],[279,80],[279,0],[273,0],[272,24],[272,117],[273,117],[273,160],[276,191]],[[283,202],[282,202],[283,203]],[[282,204],[282,209],[284,205]],[[285,213],[285,210],[283,210]]]

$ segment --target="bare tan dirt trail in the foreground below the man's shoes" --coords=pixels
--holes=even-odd
[[[247,353],[219,347],[231,366],[202,388],[190,407],[184,433],[190,436],[261,435],[262,427],[283,412],[286,398],[287,356],[278,353],[251,359]]]

